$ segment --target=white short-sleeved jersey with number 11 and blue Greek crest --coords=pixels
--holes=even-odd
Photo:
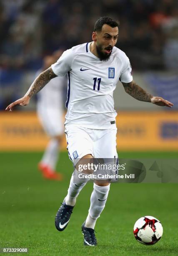
[[[58,76],[68,73],[68,95],[65,125],[80,125],[92,129],[110,129],[115,126],[113,91],[120,79],[133,80],[128,57],[113,47],[108,61],[100,61],[90,52],[90,43],[65,51],[51,65]]]

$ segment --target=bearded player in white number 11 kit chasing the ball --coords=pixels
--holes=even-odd
[[[72,175],[68,194],[56,214],[55,226],[59,231],[67,227],[76,199],[89,180],[87,175],[80,175],[80,164],[83,165],[86,159],[90,164],[93,158],[110,158],[113,161],[118,158],[115,124],[117,113],[113,100],[118,80],[122,82],[125,92],[137,100],[169,108],[173,106],[161,97],[150,95],[133,81],[128,57],[115,47],[118,40],[117,22],[108,17],[99,18],[94,26],[92,40],[65,51],[55,64],[35,79],[24,97],[6,108],[12,111],[15,105],[28,105],[30,98],[51,79],[68,73],[65,133],[69,156],[76,168],[74,174],[77,177],[74,179],[74,174]],[[89,170],[88,168],[83,173],[88,174]],[[82,225],[85,246],[97,245],[94,227],[105,208],[109,189],[110,179],[94,180],[90,209]]]

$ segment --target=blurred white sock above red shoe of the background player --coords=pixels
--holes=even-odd
[[[48,146],[45,149],[43,158],[41,160],[42,164],[50,166],[52,170],[55,170],[57,161],[58,161],[58,151],[59,151],[59,142],[57,139],[51,139],[48,143]]]

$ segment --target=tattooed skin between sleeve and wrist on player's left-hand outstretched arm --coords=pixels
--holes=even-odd
[[[51,67],[46,69],[35,79],[25,96],[31,98],[35,93],[39,92],[46,84],[48,84],[51,79],[55,77],[57,76]]]

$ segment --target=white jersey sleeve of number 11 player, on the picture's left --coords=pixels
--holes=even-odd
[[[51,68],[57,76],[63,77],[65,74],[67,74],[68,71],[70,71],[72,62],[72,49],[69,49],[63,52],[58,61],[55,64],[51,65]]]

